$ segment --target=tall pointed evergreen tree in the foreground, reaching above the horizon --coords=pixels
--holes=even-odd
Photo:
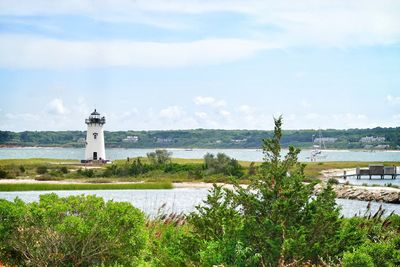
[[[189,217],[194,233],[205,240],[198,252],[208,255],[203,264],[317,264],[330,255],[339,226],[335,194],[328,186],[314,197],[313,185],[303,184],[300,150],[291,146],[281,155],[281,126],[279,117],[273,137],[263,140],[265,159],[248,187],[215,186]]]

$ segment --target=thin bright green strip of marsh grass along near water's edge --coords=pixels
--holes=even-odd
[[[0,184],[0,191],[172,189],[169,182],[136,184]]]

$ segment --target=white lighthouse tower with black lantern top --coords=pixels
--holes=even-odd
[[[104,147],[104,131],[103,125],[106,118],[100,117],[100,113],[96,109],[85,120],[88,126],[86,134],[86,150],[85,160],[106,160],[106,150]]]

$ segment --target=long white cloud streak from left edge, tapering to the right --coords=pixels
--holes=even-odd
[[[273,46],[241,39],[204,39],[176,43],[84,42],[2,34],[0,67],[185,67],[236,61]]]

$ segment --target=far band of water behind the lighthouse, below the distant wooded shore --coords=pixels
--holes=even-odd
[[[225,153],[230,157],[245,161],[262,161],[262,151],[258,149],[168,149],[175,158],[196,159],[203,158],[206,153]],[[107,159],[125,159],[127,157],[145,157],[154,149],[106,149]],[[287,150],[284,150],[287,152]],[[300,161],[310,161],[310,150],[302,150]],[[318,161],[400,161],[400,151],[324,151],[324,158]],[[56,158],[56,159],[83,159],[83,148],[0,148],[0,159],[10,158]]]

